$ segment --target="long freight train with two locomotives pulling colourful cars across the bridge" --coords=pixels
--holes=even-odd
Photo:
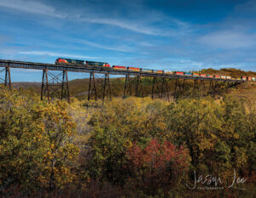
[[[58,58],[55,60],[55,65],[81,65],[81,66],[95,66],[95,67],[111,67],[108,63],[105,62],[96,62],[96,61],[88,61],[88,60],[80,60],[80,59],[66,59],[66,58]],[[183,72],[183,71],[158,71],[158,70],[151,70],[145,68],[138,68],[138,67],[126,67],[121,65],[113,65],[112,68],[114,70],[119,71],[142,71],[148,73],[158,73],[158,74],[172,74],[178,76],[194,76],[194,77],[206,77],[206,78],[217,78],[217,79],[227,79],[227,80],[241,80],[243,82],[246,81],[253,81],[256,82],[256,77],[247,77],[241,76],[241,78],[232,78],[230,76],[212,76],[207,74],[200,74],[200,73],[190,73],[190,72]]]

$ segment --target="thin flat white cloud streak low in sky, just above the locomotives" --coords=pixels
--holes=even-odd
[[[101,57],[92,57],[92,56],[74,55],[74,54],[58,54],[54,52],[45,52],[45,51],[24,51],[24,52],[19,52],[18,54],[69,57],[69,58],[75,58],[75,59],[102,59]]]

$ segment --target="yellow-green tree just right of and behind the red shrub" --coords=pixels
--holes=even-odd
[[[212,99],[183,99],[169,105],[165,115],[171,141],[186,144],[193,166],[208,173],[208,167],[214,166],[214,145],[222,133],[221,108]]]

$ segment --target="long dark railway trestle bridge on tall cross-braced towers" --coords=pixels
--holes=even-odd
[[[216,95],[218,88],[236,88],[241,80],[219,79],[204,76],[180,76],[176,74],[160,74],[145,71],[116,70],[112,67],[86,66],[86,65],[55,65],[34,62],[23,62],[15,60],[0,59],[0,83],[11,88],[10,68],[23,68],[43,71],[41,99],[59,98],[70,100],[67,72],[90,73],[87,99],[111,99],[112,86],[109,75],[125,76],[123,97],[137,96],[143,97],[143,77],[152,79],[150,81],[151,97],[170,99],[171,95],[177,99],[180,93],[186,90],[188,82],[192,86],[193,92],[201,91],[204,94]],[[57,75],[52,71],[60,71]],[[174,88],[171,93],[170,82]],[[193,83],[191,85],[191,82]],[[207,83],[206,83],[207,82]],[[169,85],[168,85],[169,84]],[[135,86],[132,86],[135,85]],[[85,91],[85,90],[84,90]]]

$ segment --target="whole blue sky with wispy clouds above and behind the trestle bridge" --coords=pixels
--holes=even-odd
[[[57,57],[256,71],[256,0],[0,0],[0,59],[54,63]],[[12,69],[11,75],[40,82],[42,72]]]

